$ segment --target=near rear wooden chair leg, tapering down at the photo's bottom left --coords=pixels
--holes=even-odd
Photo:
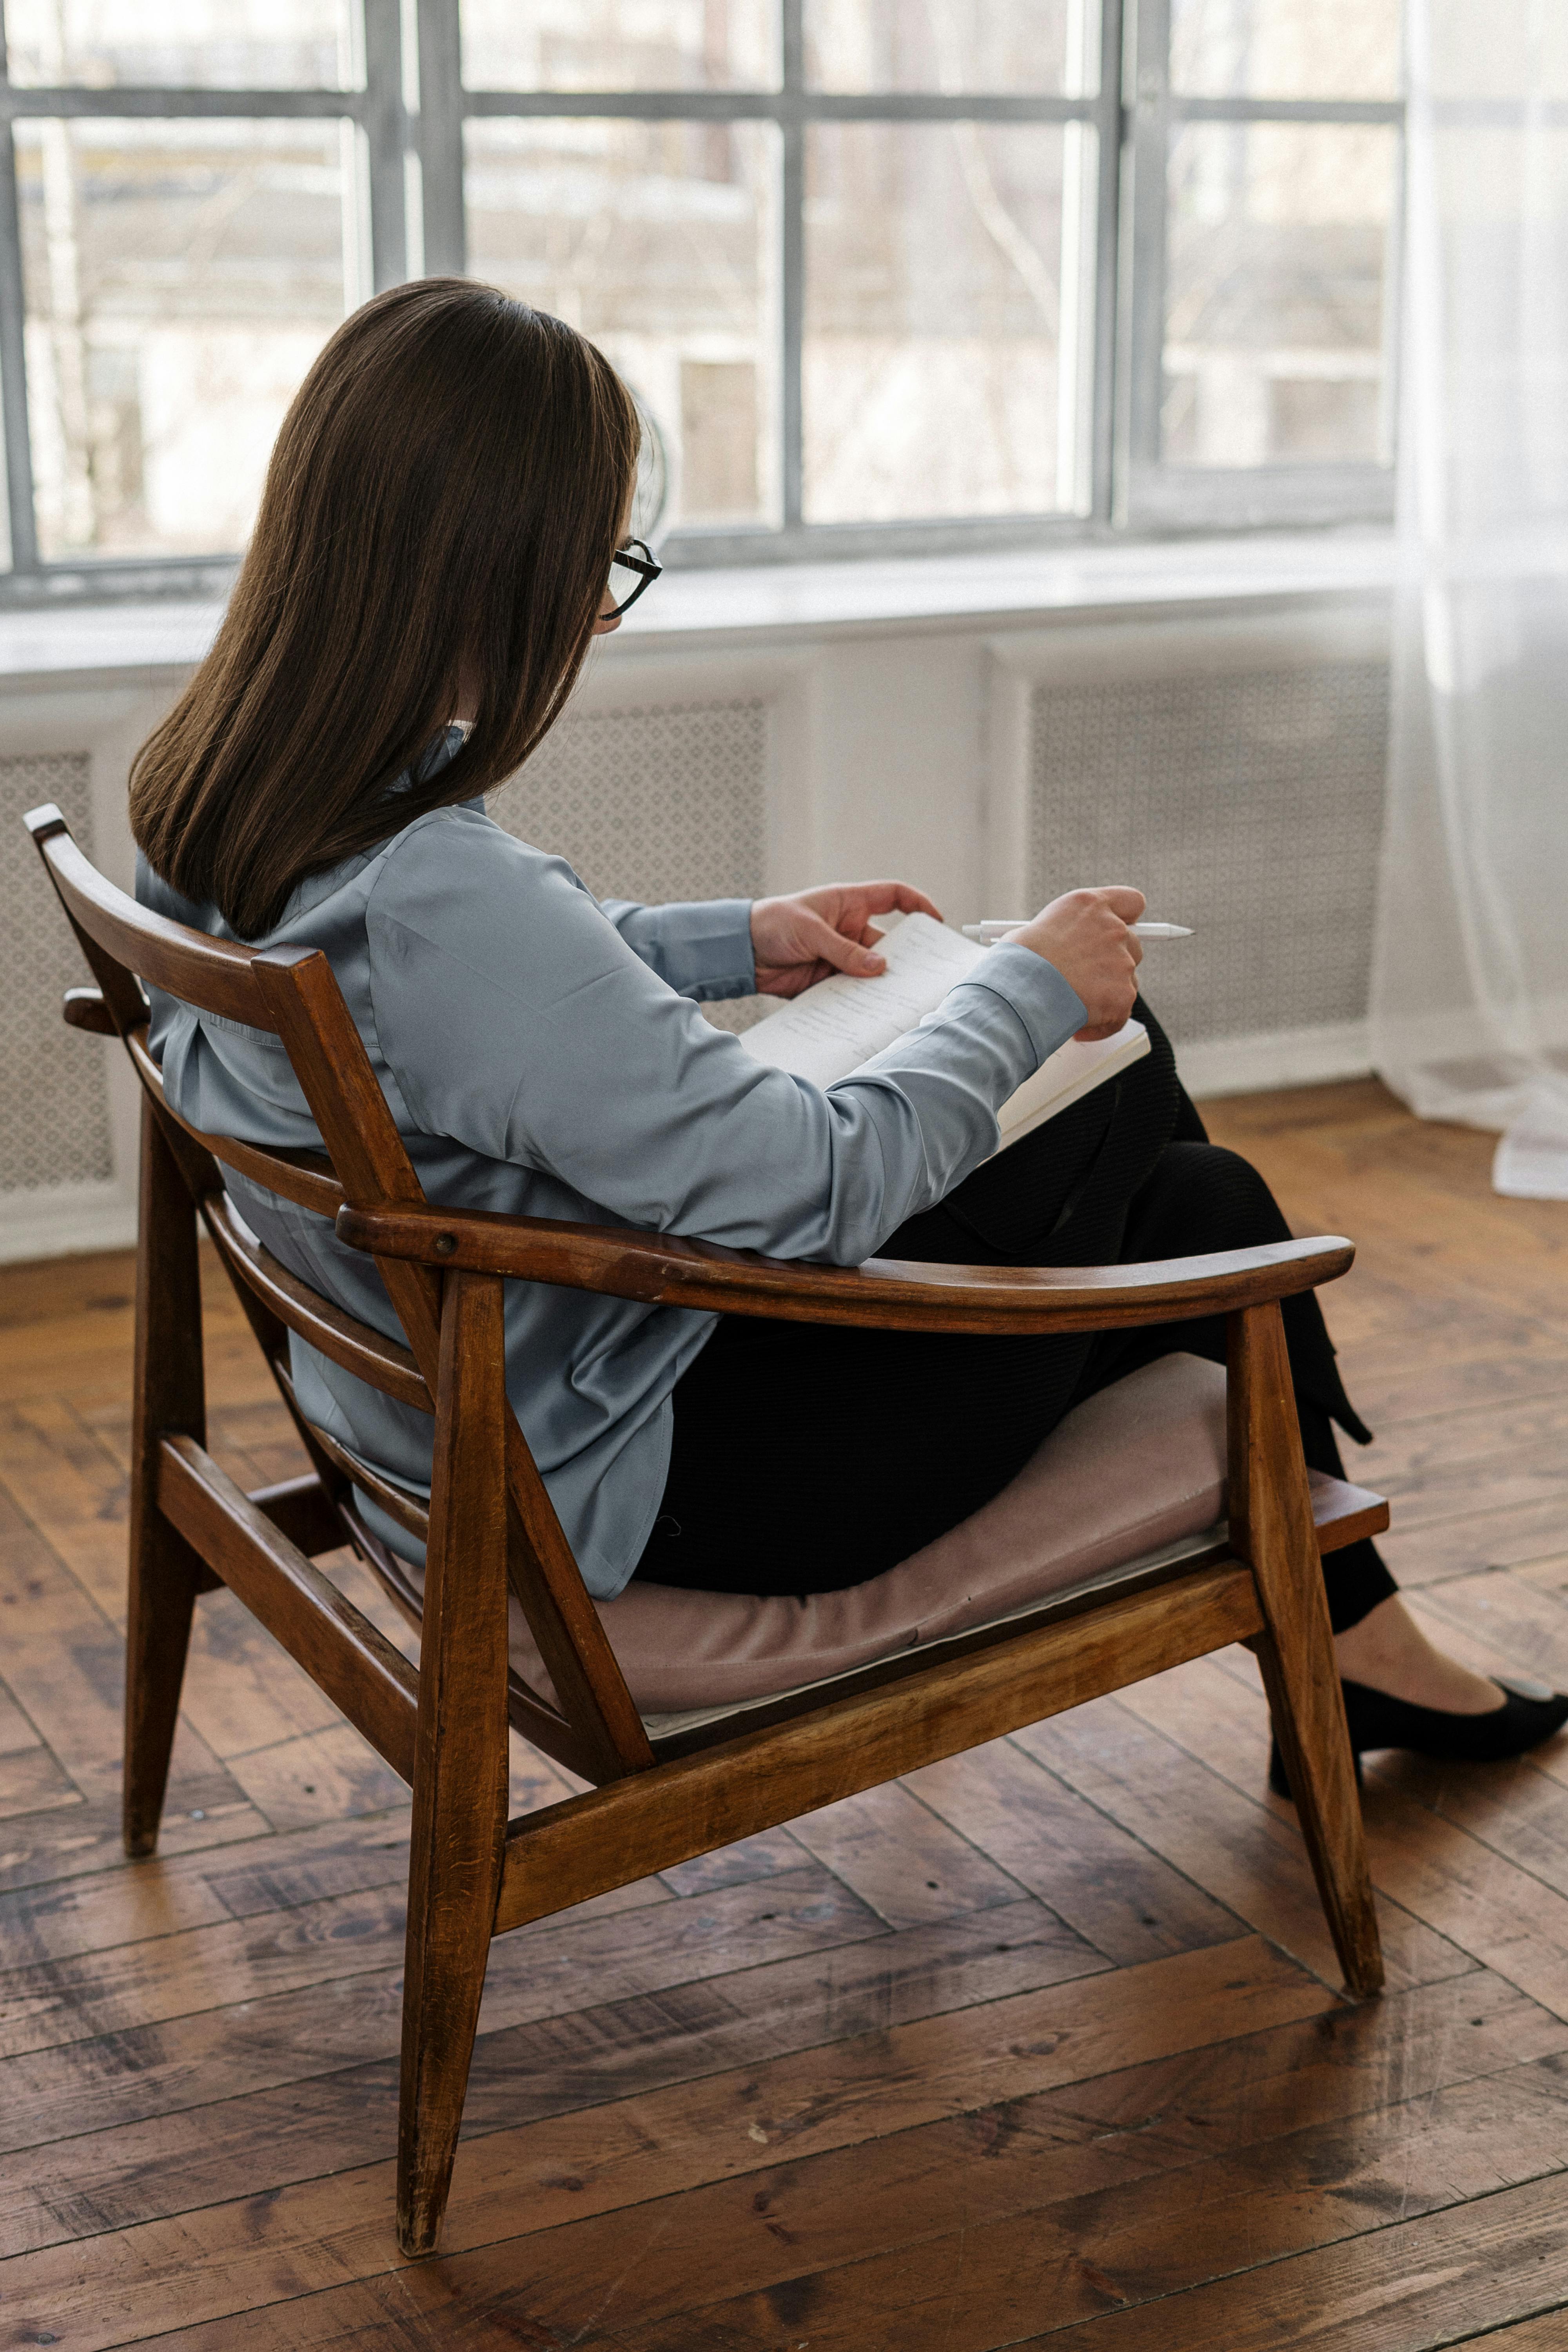
[[[447,2211],[505,1851],[505,1409],[501,1282],[447,1275],[397,2110],[409,2256]]]

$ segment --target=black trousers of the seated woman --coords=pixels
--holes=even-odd
[[[1145,1004],[1152,1051],[893,1232],[882,1254],[964,1265],[1112,1265],[1288,1240],[1258,1171],[1208,1141]],[[1366,1442],[1312,1294],[1284,1301],[1302,1449],[1342,1475]],[[1225,1319],[1037,1338],[719,1317],[675,1388],[675,1446],[637,1573],[705,1592],[832,1592],[987,1503],[1084,1397]],[[1375,1545],[1324,1562],[1335,1632],[1394,1592]]]

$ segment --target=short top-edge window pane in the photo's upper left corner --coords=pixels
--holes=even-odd
[[[14,82],[348,89],[360,0],[5,0]]]

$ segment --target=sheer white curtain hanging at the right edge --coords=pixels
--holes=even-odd
[[[1568,0],[1408,0],[1373,1063],[1568,1200]]]

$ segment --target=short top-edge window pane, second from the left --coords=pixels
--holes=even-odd
[[[463,0],[470,89],[776,89],[776,0]]]

